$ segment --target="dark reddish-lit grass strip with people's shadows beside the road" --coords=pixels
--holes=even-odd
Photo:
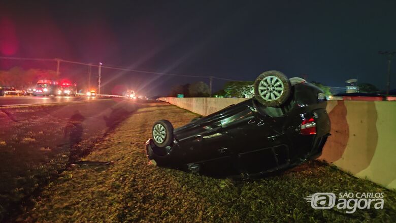
[[[30,198],[135,110],[114,100],[2,107],[0,222],[25,212]]]

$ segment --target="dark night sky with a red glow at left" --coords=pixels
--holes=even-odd
[[[358,77],[384,89],[386,59],[377,52],[396,50],[395,12],[396,1],[2,1],[0,54],[237,80],[279,70],[340,87]],[[82,66],[61,71],[86,77]],[[103,72],[107,90],[150,95],[208,82]],[[215,90],[223,84],[215,80]]]

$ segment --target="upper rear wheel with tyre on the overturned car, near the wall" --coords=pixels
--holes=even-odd
[[[290,95],[290,81],[280,71],[266,71],[254,82],[254,97],[262,105],[280,107]]]

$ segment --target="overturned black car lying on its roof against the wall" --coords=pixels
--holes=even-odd
[[[252,178],[318,157],[330,132],[323,91],[302,78],[267,71],[254,97],[173,129],[153,126],[149,160],[160,167]]]

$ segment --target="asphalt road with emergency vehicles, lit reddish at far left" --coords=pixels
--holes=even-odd
[[[96,97],[0,97],[0,106],[99,100]]]

